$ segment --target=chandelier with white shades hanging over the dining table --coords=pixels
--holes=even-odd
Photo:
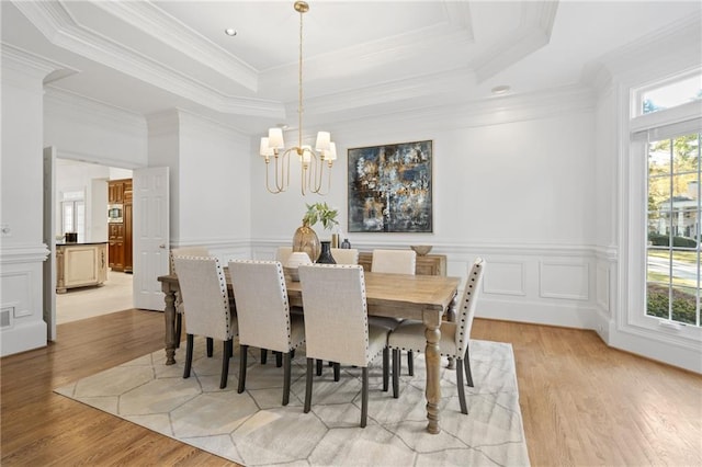
[[[325,195],[331,186],[331,167],[337,159],[337,147],[331,141],[329,132],[319,132],[317,143],[313,149],[303,146],[303,14],[309,11],[309,5],[304,1],[295,2],[295,11],[299,13],[299,68],[298,68],[298,101],[297,101],[297,146],[285,149],[283,128],[269,128],[268,137],[261,138],[259,153],[265,160],[265,187],[269,192],[282,193],[290,186],[290,159],[297,155],[302,164],[301,190],[303,196],[307,193]],[[273,163],[271,164],[271,158]],[[271,168],[271,166],[273,166]],[[327,170],[325,171],[325,166]],[[273,169],[274,175],[269,174]],[[322,191],[325,172],[327,173],[326,191]],[[271,185],[271,179],[273,184]]]

